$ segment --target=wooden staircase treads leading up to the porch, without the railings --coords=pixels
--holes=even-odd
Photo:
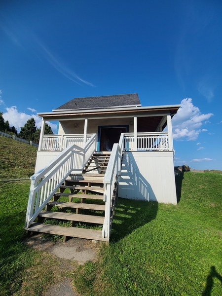
[[[108,151],[95,152],[82,174],[71,174],[40,212],[37,221],[27,229],[28,232],[62,235],[64,242],[70,237],[108,241],[102,238],[105,217],[103,179],[110,154]],[[117,183],[111,202],[111,221],[116,197]],[[68,227],[61,225],[65,222],[69,222]]]

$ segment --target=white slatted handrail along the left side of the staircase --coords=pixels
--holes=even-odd
[[[25,229],[37,218],[70,173],[83,170],[95,150],[96,134],[92,135],[83,148],[75,144],[67,147],[55,160],[30,178]]]

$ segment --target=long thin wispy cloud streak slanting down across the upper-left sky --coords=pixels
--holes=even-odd
[[[94,86],[91,82],[82,79],[73,70],[67,67],[66,63],[53,53],[49,47],[43,43],[34,32],[31,31],[30,28],[14,24],[9,20],[4,20],[4,22],[1,20],[0,27],[17,46],[24,50],[30,50],[39,59],[44,58],[52,67],[68,79],[77,84],[84,83],[89,86]]]

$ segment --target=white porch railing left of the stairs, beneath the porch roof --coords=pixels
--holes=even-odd
[[[86,142],[92,137],[87,134]],[[43,135],[39,151],[63,151],[70,145],[84,146],[84,135]]]

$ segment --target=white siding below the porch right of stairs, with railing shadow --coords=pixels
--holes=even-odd
[[[177,204],[173,152],[124,152],[118,195]]]

